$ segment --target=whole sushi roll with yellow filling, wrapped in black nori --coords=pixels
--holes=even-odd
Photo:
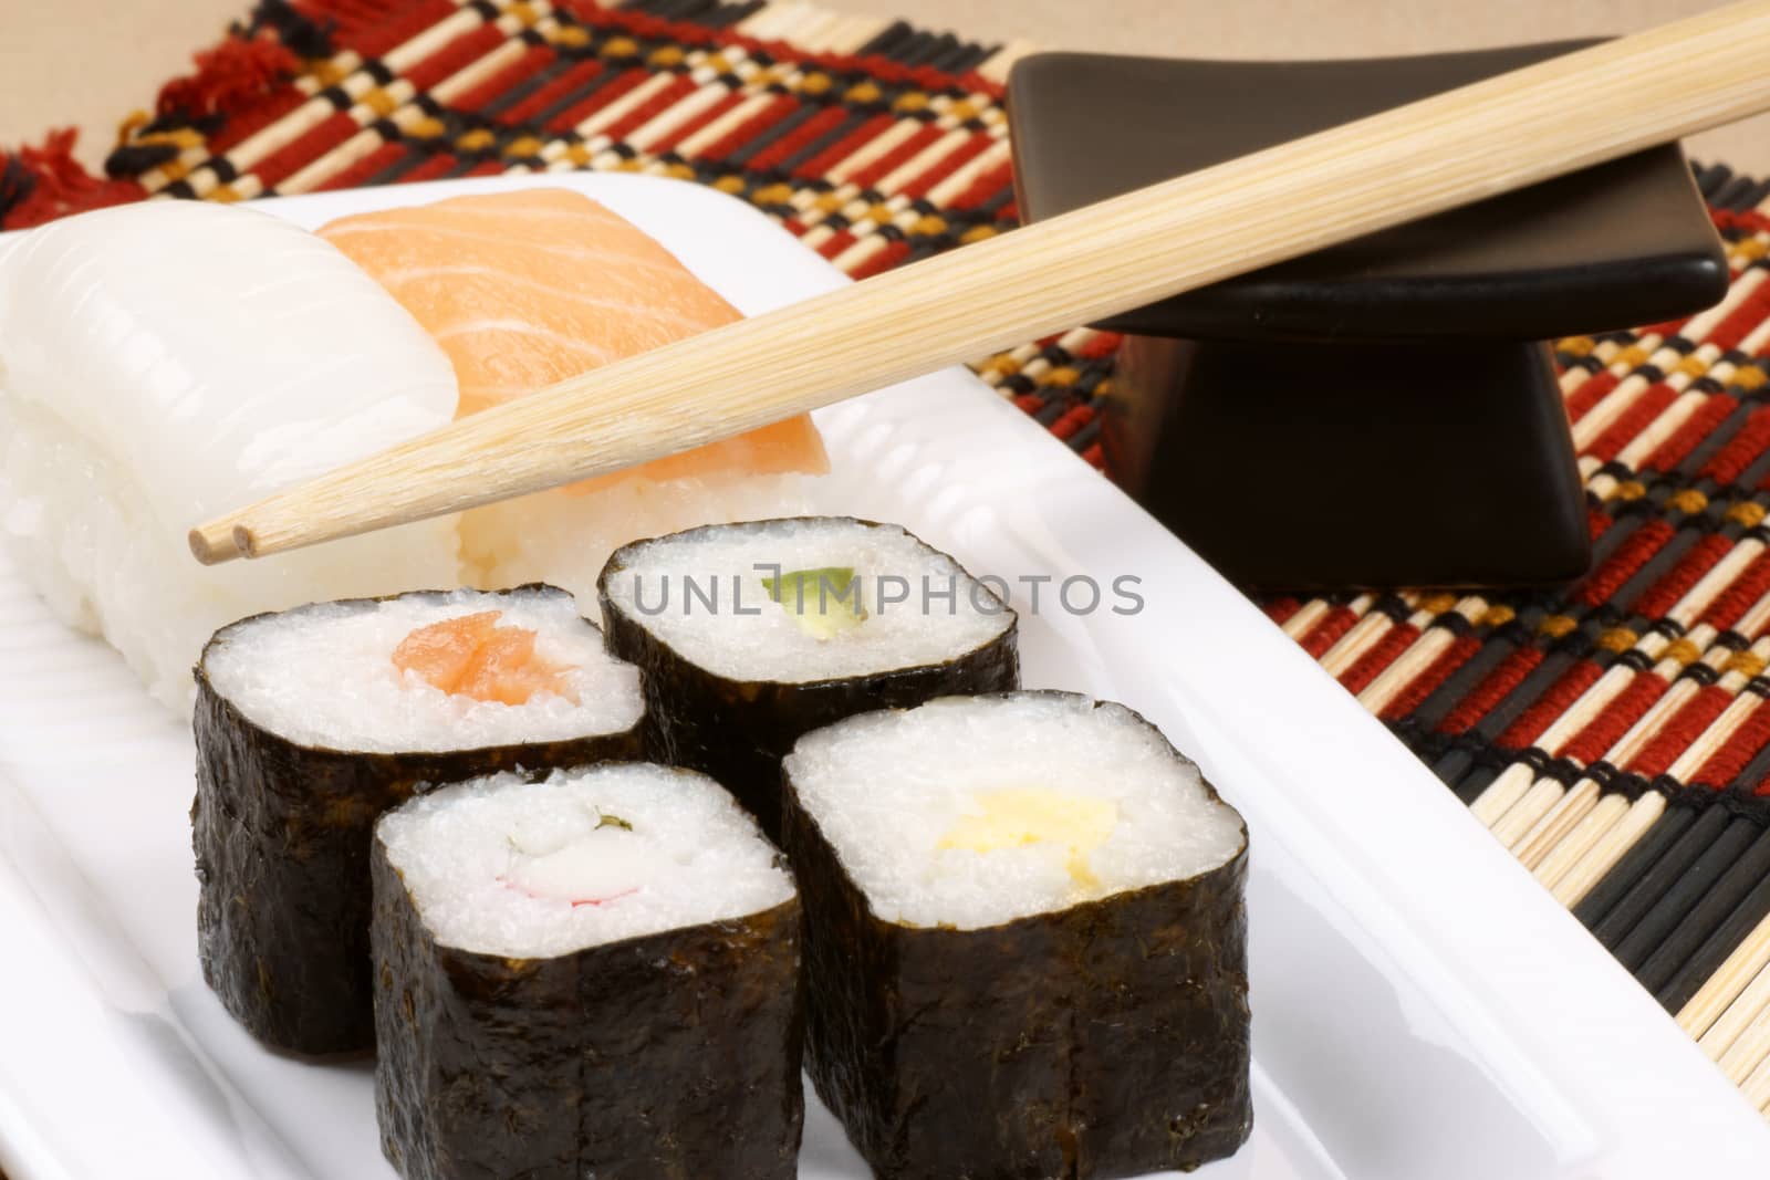
[[[881,1180],[1126,1176],[1251,1130],[1248,835],[1142,716],[931,701],[800,738],[805,1067]]]

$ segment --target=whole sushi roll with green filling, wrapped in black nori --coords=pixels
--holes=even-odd
[[[618,548],[596,582],[609,649],[644,669],[667,761],[781,831],[781,759],[869,709],[1020,686],[1014,612],[892,524],[796,517]]]

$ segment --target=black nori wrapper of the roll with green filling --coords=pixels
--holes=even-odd
[[[885,527],[874,520],[839,520],[871,529]],[[782,520],[704,525],[687,533],[765,529],[777,524]],[[627,554],[648,543],[651,541],[634,541],[616,550],[596,579],[602,633],[609,651],[637,663],[644,672],[646,713],[658,729],[664,759],[715,778],[756,816],[770,840],[781,839],[781,759],[804,734],[855,713],[912,708],[935,697],[1020,688],[1020,619],[1007,605],[1004,614],[1009,626],[1000,635],[940,663],[804,683],[719,676],[666,644],[644,619],[627,614],[611,600],[609,582],[627,571]],[[965,570],[949,554],[935,552]]]

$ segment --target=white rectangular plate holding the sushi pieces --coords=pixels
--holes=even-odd
[[[558,184],[745,313],[843,276],[754,209],[625,175],[262,202],[303,225]],[[1770,1130],[1671,1019],[1234,587],[963,370],[820,414],[820,508],[1050,577],[1025,678],[1140,709],[1248,817],[1255,1132],[1200,1180],[1745,1176]],[[1142,579],[1069,614],[1064,579]],[[1078,587],[1080,589],[1080,587]],[[1078,600],[1080,601],[1080,600]],[[389,1180],[366,1065],[260,1049],[204,987],[189,732],[0,559],[0,1166],[12,1180]],[[805,1180],[866,1168],[807,1102]]]

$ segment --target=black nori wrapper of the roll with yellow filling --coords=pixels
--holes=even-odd
[[[1248,1139],[1246,840],[1184,881],[912,927],[873,913],[791,775],[782,803],[805,1070],[881,1180],[1191,1171]]]

